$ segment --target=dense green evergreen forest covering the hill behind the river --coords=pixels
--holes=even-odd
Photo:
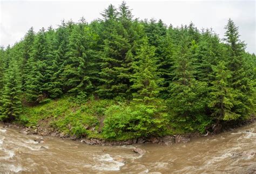
[[[37,33],[31,27],[14,46],[1,48],[3,121],[18,119],[22,103],[63,95],[81,103],[93,96],[129,105],[108,111],[110,137],[169,127],[203,132],[212,123],[254,114],[256,59],[245,52],[231,19],[221,40],[193,23],[173,27],[139,20],[125,2],[101,15],[91,23],[63,20],[57,29]]]

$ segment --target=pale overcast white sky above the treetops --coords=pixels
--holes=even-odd
[[[50,25],[56,28],[62,19],[87,22],[100,18],[109,4],[122,1],[5,1],[0,0],[0,45],[14,45],[33,26],[37,32]],[[181,26],[193,22],[198,29],[212,28],[224,38],[228,18],[239,26],[246,51],[256,53],[255,1],[126,1],[133,16],[139,19],[162,19],[166,25]]]

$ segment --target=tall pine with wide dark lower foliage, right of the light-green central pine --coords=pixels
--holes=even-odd
[[[173,82],[169,87],[169,108],[171,120],[174,127],[191,131],[198,129],[204,131],[206,121],[205,93],[207,86],[194,78],[195,67],[193,65],[193,54],[196,45],[188,47],[184,42],[174,55]]]

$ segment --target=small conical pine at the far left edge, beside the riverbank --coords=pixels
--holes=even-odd
[[[11,61],[4,76],[3,106],[0,120],[14,121],[21,114],[21,87],[18,66],[14,61]]]

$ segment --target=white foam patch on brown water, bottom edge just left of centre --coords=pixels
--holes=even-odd
[[[124,163],[114,161],[109,154],[96,156],[93,159],[98,164],[91,166],[91,168],[100,171],[119,171],[120,167],[125,165]]]

